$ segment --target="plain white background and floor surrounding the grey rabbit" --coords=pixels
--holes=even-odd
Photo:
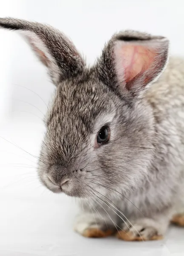
[[[184,55],[183,10],[182,0],[0,1],[0,17],[55,26],[69,35],[89,64],[122,29],[165,35],[171,54]],[[0,30],[0,256],[183,255],[180,228],[171,227],[164,241],[145,243],[84,239],[72,231],[75,200],[43,188],[37,159],[30,155],[39,155],[42,118],[53,91],[46,70],[22,38]]]

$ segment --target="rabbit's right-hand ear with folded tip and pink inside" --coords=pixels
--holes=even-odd
[[[164,70],[168,48],[167,38],[135,31],[120,32],[103,49],[97,61],[98,74],[119,93],[141,97]]]

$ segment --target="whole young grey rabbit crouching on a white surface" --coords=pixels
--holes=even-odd
[[[26,38],[56,86],[37,172],[52,192],[79,198],[74,230],[146,241],[171,221],[184,226],[184,61],[169,59],[169,40],[119,32],[88,67],[51,26],[0,27]]]

